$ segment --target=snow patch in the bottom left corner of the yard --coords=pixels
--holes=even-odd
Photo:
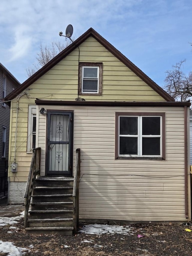
[[[12,242],[3,242],[0,240],[0,253],[8,253],[7,256],[21,256],[30,251],[27,248],[16,247]]]

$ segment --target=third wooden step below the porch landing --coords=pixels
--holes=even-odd
[[[67,210],[73,209],[72,202],[52,202],[52,203],[31,203],[31,210]]]

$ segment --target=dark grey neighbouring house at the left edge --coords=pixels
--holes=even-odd
[[[20,85],[19,81],[0,63],[0,191],[7,185],[10,107],[3,99]]]

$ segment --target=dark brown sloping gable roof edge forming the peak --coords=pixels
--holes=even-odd
[[[112,44],[105,40],[101,35],[99,35],[94,29],[88,29],[84,34],[77,38],[72,44],[65,48],[61,53],[50,60],[45,66],[38,70],[35,74],[29,77],[25,82],[23,82],[14,93],[11,92],[7,95],[6,100],[10,101],[16,97],[19,93],[25,90],[28,86],[34,83],[38,78],[44,75],[49,69],[55,66],[58,62],[64,59],[69,53],[71,53],[76,47],[78,47],[82,42],[84,42],[88,37],[92,36],[100,44],[102,44],[107,50],[109,50],[117,59],[124,63],[129,69],[131,69],[138,77],[140,77],[144,82],[146,82],[155,92],[157,92],[166,101],[175,101],[167,92],[165,92],[160,86],[158,86],[153,80],[151,80],[146,74],[143,73],[137,66],[135,66],[129,59],[127,59],[121,52],[119,52]]]

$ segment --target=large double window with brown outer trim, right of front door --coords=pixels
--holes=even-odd
[[[165,158],[164,113],[116,113],[116,159]]]

